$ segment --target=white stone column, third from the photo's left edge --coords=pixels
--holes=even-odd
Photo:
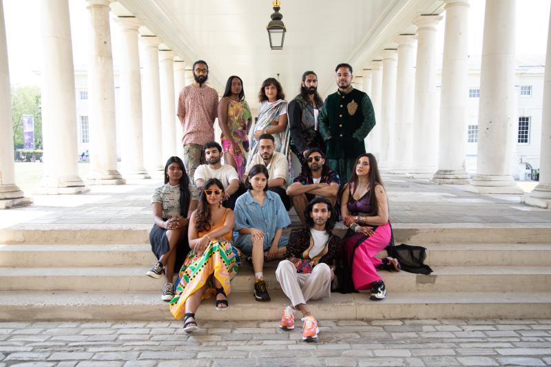
[[[109,4],[86,0],[88,10],[88,116],[90,119],[90,185],[123,185],[117,170],[115,82],[111,52]]]

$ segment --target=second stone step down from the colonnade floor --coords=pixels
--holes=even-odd
[[[430,266],[551,265],[551,244],[430,244]],[[380,257],[386,255],[383,251]],[[149,244],[6,244],[0,266],[149,266]]]

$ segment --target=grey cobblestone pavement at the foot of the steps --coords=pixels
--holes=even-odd
[[[276,321],[198,322],[189,336],[181,322],[1,322],[0,367],[551,364],[551,319],[322,320],[317,343]]]

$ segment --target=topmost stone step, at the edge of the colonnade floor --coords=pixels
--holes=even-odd
[[[148,243],[152,224],[25,224],[1,229],[0,244],[136,244]],[[335,233],[344,234],[342,223]],[[549,243],[548,223],[396,223],[396,244]]]

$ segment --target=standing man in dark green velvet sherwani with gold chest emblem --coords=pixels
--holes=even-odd
[[[339,64],[335,72],[339,89],[326,98],[318,125],[329,167],[344,185],[357,156],[366,152],[364,138],[375,126],[375,112],[367,94],[352,87],[351,65]]]

